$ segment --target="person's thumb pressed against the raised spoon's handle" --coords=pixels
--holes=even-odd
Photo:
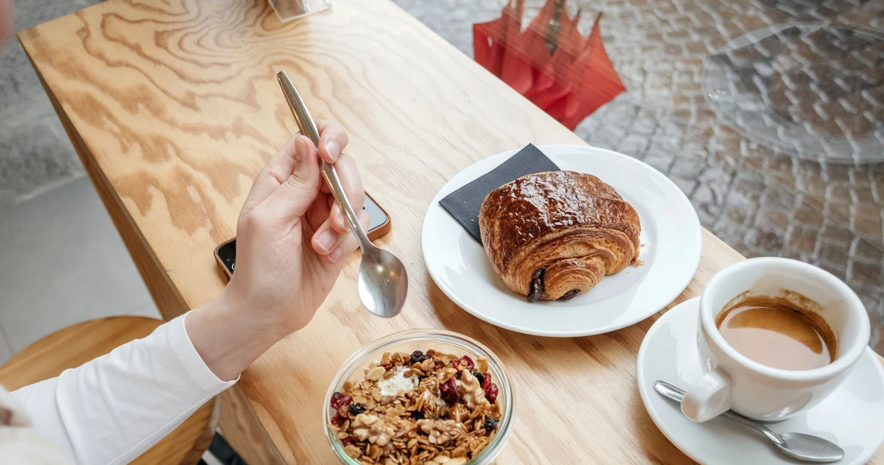
[[[319,153],[310,139],[298,136],[288,155],[282,172],[286,177],[264,203],[277,218],[294,219],[307,214],[319,194]]]

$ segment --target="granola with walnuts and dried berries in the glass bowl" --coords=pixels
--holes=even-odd
[[[463,465],[497,433],[488,359],[433,349],[385,353],[331,396],[329,427],[363,465]]]

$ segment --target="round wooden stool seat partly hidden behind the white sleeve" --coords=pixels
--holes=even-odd
[[[8,390],[58,376],[68,368],[103,356],[128,341],[147,336],[164,321],[146,317],[109,317],[68,326],[27,346],[0,366],[0,385]],[[137,465],[195,465],[215,435],[221,402],[212,399],[183,424],[141,454]]]

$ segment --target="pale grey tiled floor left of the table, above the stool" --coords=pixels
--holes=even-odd
[[[0,363],[87,319],[160,318],[87,177],[0,208]]]

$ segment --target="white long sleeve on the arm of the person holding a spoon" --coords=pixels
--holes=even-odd
[[[232,386],[194,349],[186,316],[57,378],[0,389],[3,462],[128,463]]]

